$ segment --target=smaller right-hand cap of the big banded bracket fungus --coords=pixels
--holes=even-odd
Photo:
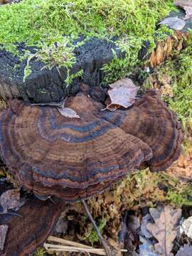
[[[153,156],[143,163],[151,171],[165,171],[181,154],[181,124],[155,90],[149,90],[129,110],[116,110],[111,115],[104,112],[101,118],[142,139],[151,148]]]

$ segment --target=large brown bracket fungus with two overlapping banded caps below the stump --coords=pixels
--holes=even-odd
[[[85,92],[65,107],[78,118],[19,100],[0,114],[1,159],[38,198],[85,202],[130,171],[165,170],[181,154],[181,125],[154,90],[127,110],[101,111],[102,103]]]

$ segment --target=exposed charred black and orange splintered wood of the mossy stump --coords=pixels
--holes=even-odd
[[[182,18],[184,12],[173,12],[170,16],[178,16]],[[188,39],[188,28],[191,28],[192,22],[186,22],[186,26],[182,31],[175,31],[173,36],[167,36],[164,41],[156,42],[156,48],[149,55],[149,43],[139,51],[139,60],[149,58],[149,65],[154,66],[162,63],[168,58],[174,50],[181,50]],[[80,38],[80,41],[83,38]],[[24,43],[18,44],[18,50],[21,54],[25,50],[29,50],[32,54],[36,53],[33,48],[28,48]],[[103,66],[110,63],[114,58],[114,52],[117,58],[124,58],[124,53],[119,50],[115,41],[104,41],[97,38],[90,38],[82,46],[75,49],[76,63],[70,69],[70,75],[78,73],[82,70],[82,77],[78,76],[73,79],[70,86],[65,83],[68,78],[68,70],[57,68],[49,70],[35,58],[30,61],[31,75],[28,75],[23,81],[24,70],[27,60],[19,60],[6,50],[0,50],[0,95],[4,99],[19,98],[26,102],[59,102],[68,95],[78,92],[80,83],[84,82],[90,87],[100,85],[105,73]],[[42,69],[43,68],[43,69]]]

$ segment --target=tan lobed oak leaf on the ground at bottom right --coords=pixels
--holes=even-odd
[[[176,224],[181,218],[181,209],[172,210],[170,206],[165,208],[149,209],[154,223],[148,223],[146,228],[158,240],[154,247],[162,255],[171,256],[173,242],[176,238]]]

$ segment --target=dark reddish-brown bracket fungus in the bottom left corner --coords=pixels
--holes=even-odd
[[[43,245],[62,213],[63,201],[40,201],[29,198],[18,215],[0,215],[0,223],[8,225],[8,233],[1,256],[26,256]]]

